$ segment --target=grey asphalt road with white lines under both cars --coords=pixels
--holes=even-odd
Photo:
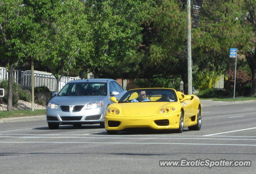
[[[202,103],[202,129],[181,134],[108,135],[98,125],[49,130],[45,120],[2,123],[0,173],[255,173],[256,102]],[[160,167],[160,160],[184,166]],[[248,164],[242,160],[250,166],[232,166]]]

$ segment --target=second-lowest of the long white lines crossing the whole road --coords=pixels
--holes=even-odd
[[[238,138],[136,138],[136,137],[78,137],[78,136],[0,136],[0,138],[83,138],[83,139],[150,139],[150,140],[256,140]]]

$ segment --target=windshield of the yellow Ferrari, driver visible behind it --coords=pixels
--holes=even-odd
[[[174,102],[177,101],[173,89],[132,89],[125,93],[118,103],[130,102]]]

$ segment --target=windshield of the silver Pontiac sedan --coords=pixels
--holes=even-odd
[[[107,95],[107,83],[74,82],[67,83],[57,96]]]

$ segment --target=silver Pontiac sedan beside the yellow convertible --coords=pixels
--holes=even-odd
[[[104,115],[110,97],[117,99],[126,93],[113,79],[82,79],[68,82],[47,106],[46,120],[50,129],[59,125],[100,124],[104,128]]]

